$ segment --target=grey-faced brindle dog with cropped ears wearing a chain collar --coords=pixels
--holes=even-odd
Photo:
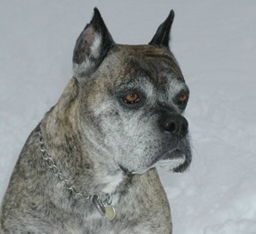
[[[149,44],[123,45],[94,9],[74,76],[20,153],[0,234],[172,233],[156,166],[182,172],[192,158],[173,20],[172,10]]]

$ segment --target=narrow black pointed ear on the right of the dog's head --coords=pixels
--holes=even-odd
[[[149,42],[150,45],[164,46],[169,49],[170,31],[174,19],[174,10],[171,10],[166,20],[158,27],[158,30]]]

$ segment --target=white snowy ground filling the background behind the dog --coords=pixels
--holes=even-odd
[[[173,8],[194,158],[161,172],[174,234],[256,234],[255,0],[0,0],[0,200],[29,133],[68,79],[98,6],[118,43],[148,43]]]

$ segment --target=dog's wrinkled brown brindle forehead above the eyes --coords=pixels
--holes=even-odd
[[[185,85],[185,80],[173,54],[161,47],[151,45],[118,45],[116,54],[119,67],[119,79],[129,82],[130,79],[143,77],[159,89],[170,89]],[[123,79],[121,78],[123,77]],[[172,87],[173,86],[173,87]]]

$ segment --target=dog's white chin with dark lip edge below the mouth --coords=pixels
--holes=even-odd
[[[170,151],[160,157],[156,166],[167,172],[183,172],[191,162],[191,155],[181,150]]]

